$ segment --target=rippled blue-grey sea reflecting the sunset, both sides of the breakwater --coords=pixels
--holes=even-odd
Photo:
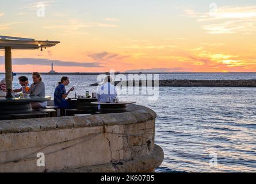
[[[4,76],[0,75],[0,79]],[[70,75],[77,94],[96,91],[95,75]],[[168,74],[160,79],[256,79],[256,73]],[[32,81],[31,76],[29,76]],[[59,75],[44,75],[53,95]],[[14,87],[18,87],[17,77]],[[71,94],[71,96],[74,93]],[[157,101],[125,95],[158,114],[156,144],[165,151],[158,172],[256,171],[256,88],[160,87]],[[211,155],[210,155],[211,154]],[[212,160],[217,160],[217,165]]]

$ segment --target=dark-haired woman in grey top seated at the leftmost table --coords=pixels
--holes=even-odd
[[[38,96],[41,98],[45,98],[45,86],[42,81],[41,75],[39,72],[33,72],[32,74],[33,84],[30,86],[29,94],[30,96]],[[47,106],[47,102],[33,102],[31,103],[33,109],[45,108]]]

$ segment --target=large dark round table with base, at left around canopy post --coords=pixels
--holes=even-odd
[[[44,98],[37,96],[28,97],[14,97],[5,98],[0,97],[0,120],[9,117],[8,114],[22,114],[31,113],[33,111],[31,107],[32,102],[44,102],[51,101],[51,97],[46,96]]]

